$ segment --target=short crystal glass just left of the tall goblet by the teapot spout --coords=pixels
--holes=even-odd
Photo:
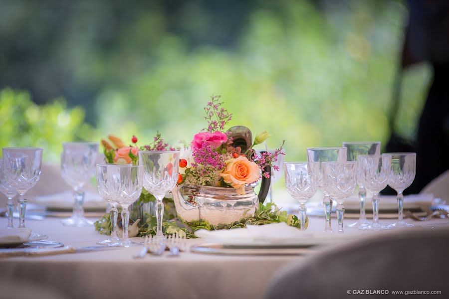
[[[130,247],[128,239],[129,210],[128,207],[134,203],[142,193],[143,166],[122,164],[112,166],[107,169],[111,171],[111,188],[118,190],[117,202],[122,206],[122,227],[123,236],[120,246]],[[108,174],[109,176],[109,174]]]

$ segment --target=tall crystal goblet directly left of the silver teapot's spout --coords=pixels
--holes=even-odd
[[[144,166],[143,186],[145,190],[156,197],[156,236],[163,238],[164,204],[162,199],[175,187],[178,181],[179,151],[139,151],[139,164]]]

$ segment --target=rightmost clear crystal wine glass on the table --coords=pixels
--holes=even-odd
[[[398,222],[391,224],[389,227],[409,227],[415,226],[407,223],[403,219],[402,211],[404,204],[404,192],[415,179],[416,174],[416,153],[415,152],[395,152],[385,153],[391,156],[391,173],[388,179],[388,185],[395,189],[398,193]]]

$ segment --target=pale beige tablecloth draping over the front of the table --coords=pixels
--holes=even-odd
[[[14,221],[17,226],[17,219]],[[48,240],[74,247],[92,246],[105,239],[93,227],[64,227],[59,221],[56,218],[26,220],[26,225],[34,232],[48,235]],[[334,230],[336,222],[333,219]],[[383,224],[393,222],[381,220]],[[431,223],[443,225],[447,222],[438,219]],[[0,218],[0,226],[6,226],[5,218]],[[308,230],[321,231],[323,228],[323,218],[310,217]],[[140,241],[140,238],[136,239]],[[198,242],[201,239],[189,240],[192,245]],[[37,288],[41,294],[54,292],[66,298],[261,298],[277,270],[310,256],[218,256],[188,252],[176,258],[167,257],[165,253],[159,257],[147,255],[144,259],[133,259],[139,250],[140,247],[132,247],[2,259],[0,287],[9,286],[7,290],[14,292],[11,286],[19,284],[20,291],[26,287]],[[319,249],[311,250],[311,254],[317,251]],[[33,298],[40,298],[38,293],[34,294]],[[46,297],[50,298],[49,295]]]

